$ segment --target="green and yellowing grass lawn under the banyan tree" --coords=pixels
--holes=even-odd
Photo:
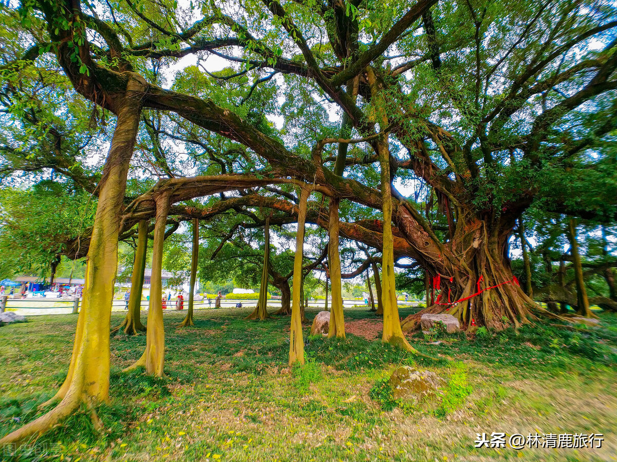
[[[617,317],[602,326],[525,326],[518,333],[384,346],[378,320],[346,310],[344,341],[307,339],[307,366],[290,370],[289,318],[246,322],[249,309],[199,310],[194,328],[165,313],[166,379],[122,373],[146,337],[112,338],[112,401],[60,424],[6,461],[617,461]],[[317,310],[307,310],[312,320]],[[407,315],[408,310],[401,310]],[[112,325],[123,313],[112,313]],[[75,315],[0,328],[0,434],[39,415],[66,375]],[[305,335],[309,325],[305,325]],[[365,336],[360,334],[364,333]],[[368,338],[366,338],[368,337]],[[434,341],[440,344],[431,344]],[[384,379],[413,365],[445,379],[419,403],[392,399]],[[599,449],[474,448],[476,433],[603,434]]]

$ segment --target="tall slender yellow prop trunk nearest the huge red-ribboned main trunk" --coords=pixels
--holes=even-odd
[[[371,97],[375,104],[375,111],[381,128],[388,126],[386,107],[379,91],[375,72],[371,67],[366,68],[368,84],[371,88]],[[381,294],[383,299],[383,334],[381,341],[399,346],[407,351],[415,351],[405,338],[400,327],[399,306],[396,299],[394,280],[394,237],[392,235],[392,189],[390,176],[390,150],[388,136],[384,134],[376,142],[376,151],[379,157],[381,174],[381,200],[383,206],[383,249],[381,257],[382,280]]]

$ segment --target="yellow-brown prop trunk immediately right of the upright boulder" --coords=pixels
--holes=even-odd
[[[332,285],[332,306],[328,338],[337,336],[345,338],[345,318],[341,288],[341,259],[339,257],[339,200],[331,198],[328,219],[328,263]]]

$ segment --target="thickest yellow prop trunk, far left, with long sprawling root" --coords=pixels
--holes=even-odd
[[[48,413],[2,438],[0,445],[43,434],[81,403],[91,406],[109,400],[109,331],[118,265],[118,230],[143,89],[143,81],[130,77],[126,93],[119,101],[114,137],[98,185],[99,201],[71,363],[64,384],[48,403],[61,401]]]

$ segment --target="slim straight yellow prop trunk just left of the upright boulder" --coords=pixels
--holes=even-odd
[[[291,328],[289,331],[289,365],[300,362],[304,365],[304,339],[302,338],[302,317],[300,315],[300,285],[302,285],[302,259],[304,252],[304,221],[307,216],[309,188],[303,187],[300,193],[298,209],[298,227],[296,231],[296,254],[294,256],[294,292],[291,305]]]

